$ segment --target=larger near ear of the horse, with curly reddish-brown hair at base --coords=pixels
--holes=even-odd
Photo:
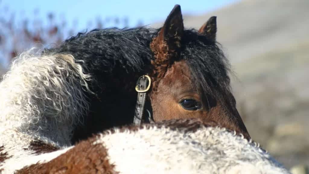
[[[175,5],[167,16],[157,37],[153,38],[150,48],[155,55],[151,61],[154,66],[154,76],[162,78],[170,63],[180,55],[181,38],[184,34],[184,24],[180,5]]]

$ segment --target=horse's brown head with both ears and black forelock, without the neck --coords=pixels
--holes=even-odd
[[[250,138],[230,92],[228,62],[216,42],[216,17],[198,32],[184,30],[176,5],[150,44],[153,119],[215,121]]]

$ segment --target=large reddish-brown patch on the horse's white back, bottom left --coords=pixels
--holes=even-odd
[[[114,170],[114,165],[109,163],[106,148],[102,144],[93,145],[95,140],[95,138],[91,138],[82,141],[74,148],[47,163],[32,164],[15,173],[118,173]]]

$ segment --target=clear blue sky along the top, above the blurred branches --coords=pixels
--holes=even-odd
[[[139,20],[145,25],[164,20],[175,4],[181,5],[183,14],[202,14],[236,1],[238,0],[0,0],[0,15],[10,17],[14,12],[17,22],[35,17],[46,22],[47,14],[54,12],[57,21],[66,19],[67,26],[73,26],[74,20],[78,21],[77,30],[86,29],[88,21],[92,20],[94,23],[98,17],[105,19],[127,16],[129,26],[133,27]],[[38,9],[36,15],[35,9]],[[109,26],[112,23],[104,27]]]

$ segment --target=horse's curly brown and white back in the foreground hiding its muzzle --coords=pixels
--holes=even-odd
[[[114,128],[37,156],[15,173],[289,173],[251,140],[197,119]]]

